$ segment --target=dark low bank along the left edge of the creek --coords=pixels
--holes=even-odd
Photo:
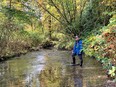
[[[21,50],[19,52],[13,52],[11,54],[2,55],[2,56],[0,56],[0,62],[9,60],[14,57],[19,57],[21,55],[25,55],[28,52],[39,51],[40,49],[51,49],[52,47],[54,47],[54,45],[55,44],[53,44],[52,41],[47,40],[47,41],[42,42],[37,47],[27,47],[25,50]]]

